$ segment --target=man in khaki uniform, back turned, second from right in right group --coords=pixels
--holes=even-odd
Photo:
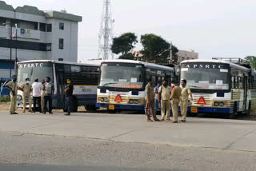
[[[172,101],[174,123],[178,123],[178,104],[180,102],[181,95],[182,95],[182,89],[178,86],[178,83],[176,83],[170,96],[170,100]]]

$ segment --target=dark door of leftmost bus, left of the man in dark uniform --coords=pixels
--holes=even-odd
[[[60,65],[61,66],[61,65]],[[59,67],[60,67],[59,66]],[[56,80],[57,80],[57,108],[58,109],[64,109],[65,105],[65,96],[64,96],[64,68],[58,68],[56,69]]]

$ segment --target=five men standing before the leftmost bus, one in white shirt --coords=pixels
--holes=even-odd
[[[38,105],[39,113],[46,114],[46,111],[50,114],[52,113],[52,99],[54,97],[54,84],[50,82],[50,77],[46,77],[46,80],[38,82],[38,78],[34,80],[34,83],[30,84],[30,78],[26,78],[26,82],[22,85],[17,84],[17,76],[14,75],[13,79],[6,84],[6,87],[10,89],[10,114],[16,113],[16,103],[17,103],[17,93],[18,89],[22,91],[22,101],[23,101],[23,113],[26,112],[26,100],[29,102],[29,112],[35,113],[37,111],[36,107]],[[67,85],[64,89],[66,94],[66,105],[67,113],[65,115],[70,115],[72,96],[73,96],[73,85],[71,80],[67,79]],[[33,96],[33,110],[32,110],[32,99],[30,93]]]

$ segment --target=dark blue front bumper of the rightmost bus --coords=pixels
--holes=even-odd
[[[187,111],[190,113],[193,113],[191,108],[197,108],[198,113],[230,113],[230,108],[188,106]]]

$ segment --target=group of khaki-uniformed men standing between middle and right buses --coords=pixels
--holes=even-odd
[[[178,82],[172,82],[171,87],[167,81],[158,82],[154,87],[154,82],[149,79],[146,85],[146,108],[150,109],[150,113],[146,113],[147,121],[152,121],[150,116],[153,115],[154,121],[170,121],[170,108],[173,113],[173,122],[178,123],[178,105],[181,106],[182,122],[186,122],[186,113],[188,105],[188,97],[193,101],[190,88],[186,86],[186,80],[182,80],[181,87]],[[156,117],[158,103],[161,104],[162,117],[161,120]]]

